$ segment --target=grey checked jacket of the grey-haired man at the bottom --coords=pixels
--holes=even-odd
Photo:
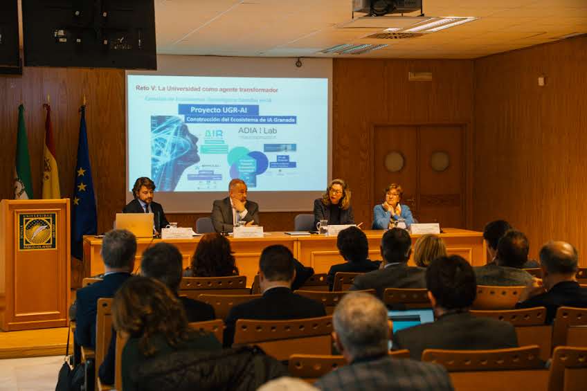
[[[314,387],[329,391],[453,390],[444,367],[390,356],[353,361],[325,374],[314,383]]]

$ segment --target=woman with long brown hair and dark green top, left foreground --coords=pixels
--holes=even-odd
[[[116,331],[129,337],[122,355],[125,391],[138,390],[132,373],[157,356],[182,349],[222,349],[213,334],[190,329],[177,295],[152,278],[132,278],[120,288],[112,320]]]

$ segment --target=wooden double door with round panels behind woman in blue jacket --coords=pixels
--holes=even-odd
[[[464,130],[460,125],[383,126],[373,131],[373,204],[390,183],[421,223],[464,228]]]

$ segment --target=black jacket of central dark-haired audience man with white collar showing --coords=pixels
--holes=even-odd
[[[231,347],[235,338],[235,325],[239,319],[285,320],[326,316],[324,306],[309,298],[293,293],[289,288],[273,288],[262,298],[239,304],[226,317],[224,346]]]

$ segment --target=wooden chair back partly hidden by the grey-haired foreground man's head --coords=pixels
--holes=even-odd
[[[389,352],[394,358],[410,358],[407,349]],[[343,356],[329,356],[320,354],[292,354],[289,357],[288,372],[293,377],[299,377],[308,383],[314,383],[316,379],[338,367],[346,365]]]

